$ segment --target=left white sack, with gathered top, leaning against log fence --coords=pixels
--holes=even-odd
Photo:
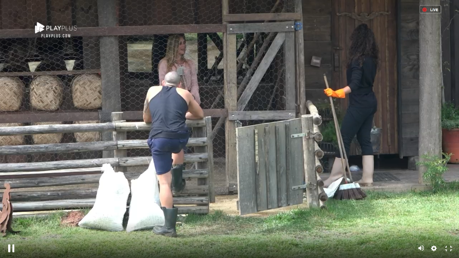
[[[122,231],[126,213],[129,182],[123,172],[115,172],[110,164],[102,165],[93,208],[78,223],[79,226],[108,231]]]

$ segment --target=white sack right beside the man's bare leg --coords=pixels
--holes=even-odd
[[[131,203],[126,231],[149,229],[164,225],[164,213],[159,199],[158,177],[151,160],[148,169],[131,180]]]

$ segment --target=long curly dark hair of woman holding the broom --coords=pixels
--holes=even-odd
[[[350,36],[351,46],[349,48],[347,68],[353,61],[358,61],[362,66],[365,57],[372,57],[378,66],[379,49],[374,39],[374,33],[366,23],[357,26]]]

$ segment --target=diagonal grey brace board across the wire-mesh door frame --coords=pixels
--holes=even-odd
[[[269,46],[268,51],[266,51],[263,60],[260,62],[257,70],[254,72],[250,82],[248,83],[247,87],[242,93],[241,97],[238,100],[238,111],[243,111],[247,106],[248,101],[252,97],[253,92],[257,88],[258,84],[260,83],[261,79],[265,75],[266,70],[271,65],[272,60],[274,59],[275,55],[279,48],[281,48],[282,44],[285,41],[285,33],[279,32],[274,41],[272,42],[271,46]],[[228,109],[229,112],[229,109]]]

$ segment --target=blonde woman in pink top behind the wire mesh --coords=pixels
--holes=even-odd
[[[166,56],[158,64],[159,82],[164,80],[166,73],[176,71],[181,77],[183,88],[193,95],[198,104],[201,104],[196,67],[193,60],[185,58],[186,50],[187,41],[184,34],[169,36]]]

